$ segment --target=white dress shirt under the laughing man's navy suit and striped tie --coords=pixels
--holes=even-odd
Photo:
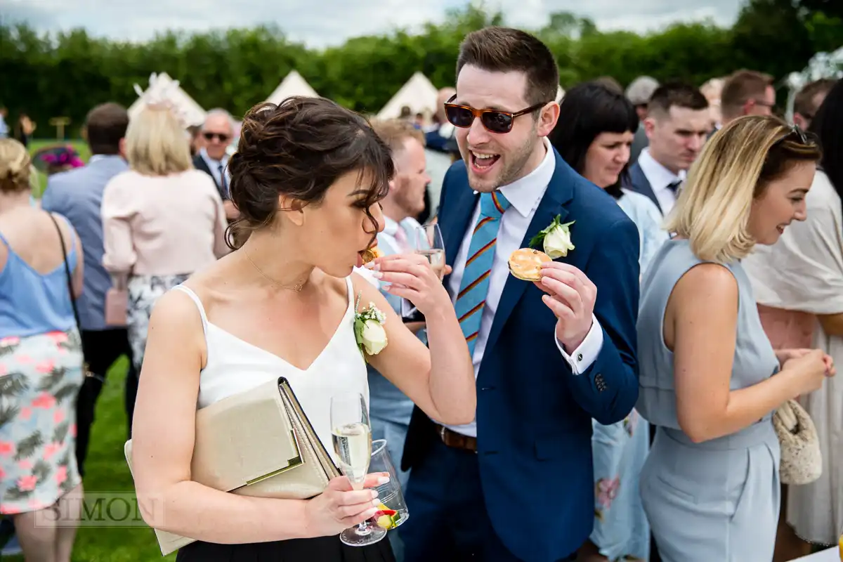
[[[497,304],[501,300],[503,286],[509,281],[509,254],[512,254],[516,249],[521,247],[521,242],[529,228],[529,223],[533,220],[536,209],[539,208],[539,203],[545,195],[547,185],[553,177],[553,172],[556,170],[556,157],[550,149],[550,142],[545,139],[545,148],[547,153],[545,159],[541,161],[539,167],[534,169],[530,174],[522,179],[518,179],[509,185],[504,185],[500,191],[510,207],[501,217],[501,225],[497,232],[497,243],[495,245],[495,257],[492,261],[491,275],[489,276],[489,292],[486,294],[486,306],[483,308],[483,313],[480,322],[480,332],[477,335],[477,342],[475,344],[474,356],[471,362],[474,364],[475,378],[480,372],[480,365],[483,361],[483,353],[486,351],[486,342],[489,339],[489,332],[491,331],[491,324],[495,318],[495,311]],[[459,283],[463,279],[465,270],[465,260],[469,252],[471,244],[471,233],[474,232],[475,225],[480,218],[480,205],[475,206],[474,217],[471,219],[471,227],[465,232],[463,242],[459,246],[459,252],[454,260],[454,271],[448,279],[448,288],[450,294],[454,295],[453,300],[456,302],[456,296],[459,294]],[[546,225],[545,225],[546,226]],[[518,281],[513,278],[513,283],[525,283],[529,281]],[[556,346],[561,351],[562,356],[571,365],[572,371],[575,375],[582,373],[597,359],[600,350],[603,348],[603,329],[600,327],[597,318],[593,318],[591,330],[588,332],[583,343],[569,356],[562,348],[556,334],[548,335],[548,337],[556,340]],[[561,376],[561,373],[560,373]],[[467,436],[477,436],[476,420],[464,426],[448,426],[449,429],[457,431]]]

